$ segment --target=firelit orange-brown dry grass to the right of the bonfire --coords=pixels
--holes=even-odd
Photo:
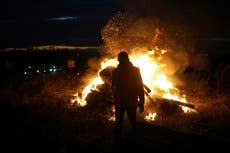
[[[214,75],[214,77],[212,76]],[[215,74],[190,73],[183,86],[187,101],[196,112],[175,113],[159,118],[154,124],[186,133],[211,135],[225,130],[230,124],[229,65]]]

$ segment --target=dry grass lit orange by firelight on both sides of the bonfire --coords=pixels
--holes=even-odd
[[[192,82],[189,84],[188,81],[183,91],[187,95],[187,100],[195,105],[196,113],[174,113],[165,118],[158,117],[151,124],[179,132],[207,135],[213,131],[223,130],[230,123],[230,95],[229,88],[226,87],[229,80],[226,77],[221,75],[217,78],[215,81],[218,88],[213,88],[210,86],[209,77],[201,78],[195,73],[189,74]],[[108,116],[112,114],[108,112],[108,108],[102,110],[103,108],[99,109],[100,105],[97,105],[97,108],[76,109],[68,103],[78,86],[82,84],[80,80],[79,76],[72,73],[39,76],[25,81],[17,89],[4,88],[0,94],[2,101],[14,107],[26,108],[34,114],[46,114],[60,123],[71,125],[69,128],[63,128],[60,137],[72,137],[73,135],[68,135],[67,131],[73,131],[73,137],[82,140],[89,140],[91,137],[91,140],[96,141],[103,137],[110,143],[113,122],[108,121]],[[96,130],[95,125],[100,130]],[[101,133],[101,129],[105,133]]]

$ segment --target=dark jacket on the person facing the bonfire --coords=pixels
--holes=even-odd
[[[115,105],[144,103],[144,89],[140,69],[131,62],[119,64],[112,71],[112,93]]]

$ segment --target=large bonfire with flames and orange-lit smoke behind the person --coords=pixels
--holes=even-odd
[[[126,50],[130,55],[130,61],[140,68],[143,78],[146,95],[144,119],[154,120],[159,113],[156,106],[159,106],[157,104],[162,101],[176,104],[184,113],[193,111],[191,102],[188,104],[186,95],[176,87],[179,81],[174,74],[182,67],[178,66],[178,63],[173,63],[172,59],[175,59],[175,56],[178,57],[178,54],[161,48],[160,34],[159,28],[151,27],[143,20],[134,22],[122,13],[115,15],[102,30],[105,55],[100,60],[97,73],[87,77],[87,84],[82,91],[74,95],[71,102],[75,106],[86,106],[90,93],[103,92],[100,88],[102,85],[107,91],[107,97],[111,97],[109,95],[111,70],[118,64],[117,53]],[[184,58],[186,63],[185,57],[186,55],[179,58]],[[105,87],[108,88],[105,89]]]

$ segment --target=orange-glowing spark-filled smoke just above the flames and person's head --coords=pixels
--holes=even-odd
[[[171,35],[170,32],[174,33]],[[113,58],[122,50],[130,54],[146,53],[156,46],[160,50],[167,50],[169,54],[163,58],[163,62],[167,63],[170,75],[184,70],[189,64],[191,47],[186,46],[190,43],[182,41],[183,38],[185,35],[181,29],[167,31],[159,26],[155,18],[122,12],[113,16],[102,30],[104,52]]]

